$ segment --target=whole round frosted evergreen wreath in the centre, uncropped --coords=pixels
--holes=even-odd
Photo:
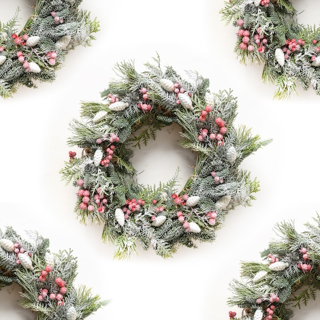
[[[211,242],[215,229],[236,205],[249,205],[259,189],[239,165],[267,145],[250,129],[233,125],[237,101],[231,92],[209,92],[209,80],[188,72],[182,79],[172,67],[146,63],[139,74],[133,62],[116,65],[120,79],[101,94],[104,103],[83,102],[81,120],[70,123],[70,151],[61,169],[66,184],[78,187],[75,212],[81,222],[104,223],[102,238],[116,244],[115,257],[144,249],[170,257],[179,245]],[[194,174],[180,192],[178,172],[166,184],[142,186],[130,162],[132,147],[155,139],[156,130],[177,123],[181,147],[197,152]]]

